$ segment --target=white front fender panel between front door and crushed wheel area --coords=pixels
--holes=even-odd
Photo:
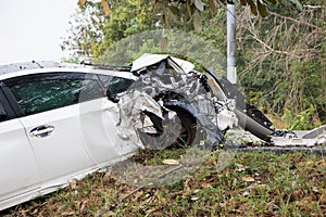
[[[116,103],[97,99],[80,104],[80,128],[96,164],[121,161],[139,148],[139,139]]]

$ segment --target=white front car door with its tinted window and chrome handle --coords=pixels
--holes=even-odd
[[[35,152],[42,188],[63,184],[95,165],[80,130],[78,101],[85,87],[83,74],[41,73],[4,82],[24,114],[20,122]],[[93,85],[89,97],[96,98],[92,94],[99,94],[99,84],[89,82]]]

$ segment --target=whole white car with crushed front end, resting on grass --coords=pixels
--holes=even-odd
[[[170,55],[143,55],[126,67],[0,66],[0,210],[139,148],[218,146],[237,125],[265,141],[289,135],[272,129],[226,79]]]

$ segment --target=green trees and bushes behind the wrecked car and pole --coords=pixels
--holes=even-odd
[[[82,2],[71,36],[62,43],[73,52],[70,61],[120,65],[151,52],[173,53],[220,72],[225,68],[224,1],[108,2],[109,10],[103,10],[103,1]],[[280,128],[311,129],[325,124],[323,0],[271,0],[266,4],[244,0],[238,2],[237,13],[237,72],[248,101]],[[185,33],[191,34],[191,41]]]

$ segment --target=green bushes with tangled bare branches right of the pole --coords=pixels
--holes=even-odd
[[[271,20],[252,18],[239,27],[251,36],[242,41],[246,52],[239,56],[244,63],[239,65],[241,85],[255,93],[254,103],[293,118],[288,127],[294,129],[326,122],[321,14],[323,11],[305,10],[300,20],[275,14],[272,28]]]

